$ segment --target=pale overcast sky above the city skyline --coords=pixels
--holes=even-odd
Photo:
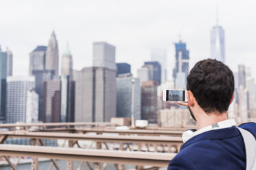
[[[116,62],[128,62],[132,72],[150,60],[150,49],[168,50],[173,69],[173,42],[186,42],[190,66],[210,54],[210,31],[216,23],[217,1],[206,0],[1,0],[0,45],[14,54],[14,75],[28,75],[29,53],[47,45],[52,31],[60,64],[69,42],[74,69],[92,66],[92,43],[116,46]],[[256,1],[218,1],[219,23],[226,32],[226,64],[252,69],[256,77]],[[169,72],[169,77],[171,74]]]

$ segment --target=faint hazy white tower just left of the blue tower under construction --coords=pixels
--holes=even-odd
[[[161,64],[161,82],[167,81],[167,49],[151,49],[151,61]]]

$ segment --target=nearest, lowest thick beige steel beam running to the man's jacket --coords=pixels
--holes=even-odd
[[[25,145],[0,145],[2,156],[27,156],[84,162],[107,162],[127,165],[149,165],[167,167],[175,154],[141,151],[109,151],[99,149],[76,149],[61,147],[39,147]]]

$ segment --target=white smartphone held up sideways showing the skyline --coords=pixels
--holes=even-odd
[[[186,102],[186,90],[164,90],[163,101],[183,101]]]

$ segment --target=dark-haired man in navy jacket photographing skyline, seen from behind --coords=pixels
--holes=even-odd
[[[184,145],[169,163],[173,169],[246,169],[244,141],[235,120],[228,119],[234,99],[231,69],[217,60],[202,60],[187,77],[187,103],[198,130],[185,132]],[[256,123],[240,125],[256,136]]]

